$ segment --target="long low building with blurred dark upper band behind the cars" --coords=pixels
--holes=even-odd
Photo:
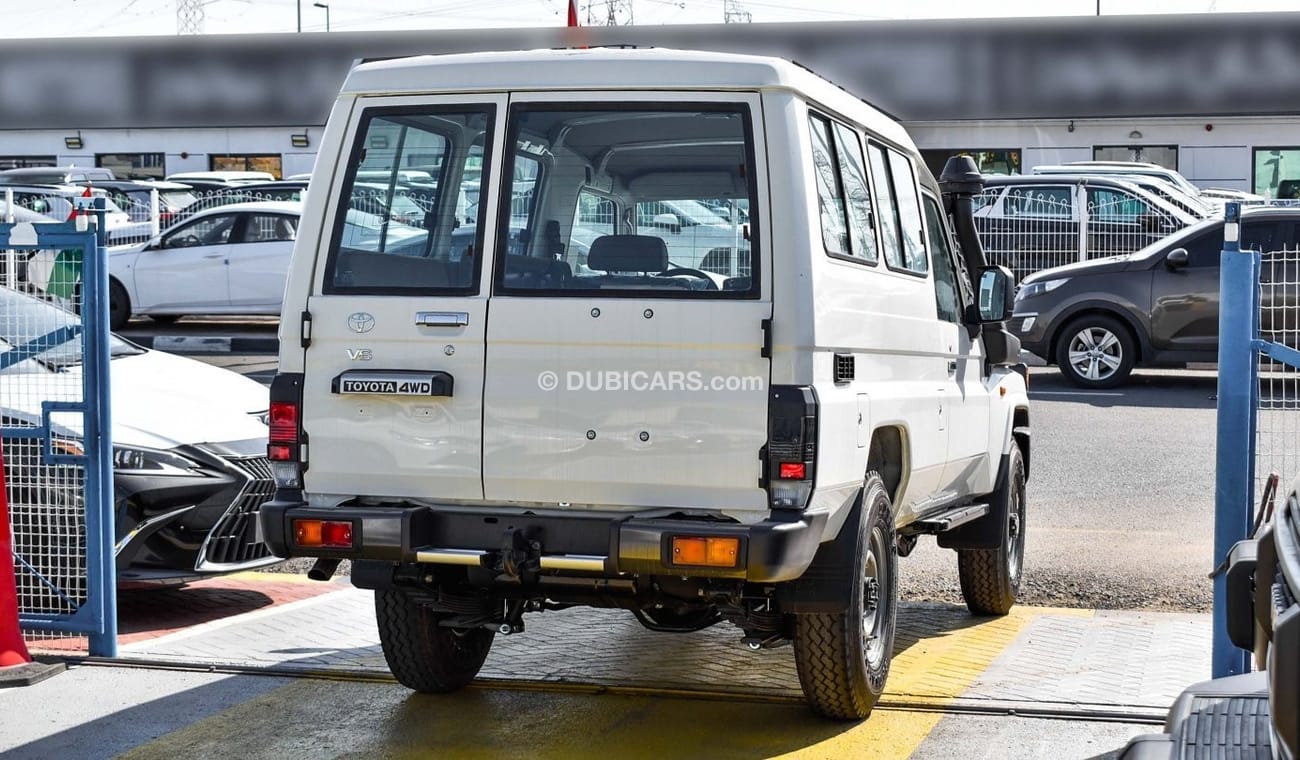
[[[1300,13],[6,40],[0,166],[311,171],[360,60],[658,45],[798,61],[902,121],[932,169],[1143,160],[1274,196],[1300,179]]]

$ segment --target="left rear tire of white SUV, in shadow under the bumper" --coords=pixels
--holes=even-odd
[[[396,589],[374,592],[374,617],[393,676],[426,694],[455,691],[473,681],[497,635],[439,626],[439,613]]]

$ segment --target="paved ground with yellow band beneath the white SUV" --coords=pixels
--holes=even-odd
[[[233,614],[176,625],[222,594]],[[725,624],[673,635],[621,611],[530,614],[524,634],[497,638],[473,687],[430,696],[391,679],[370,595],[346,582],[251,573],[169,591],[157,607],[153,627],[147,614],[125,626],[116,660],[74,659],[64,674],[0,691],[0,752],[1101,757],[1158,730],[1178,692],[1206,677],[1210,651],[1208,614],[975,618],[910,603],[880,707],[837,724],[803,704],[789,648],[751,652]]]

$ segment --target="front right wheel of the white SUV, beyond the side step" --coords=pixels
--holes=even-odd
[[[957,550],[962,599],[974,614],[1006,614],[1015,605],[1024,572],[1024,457],[1011,442],[1008,472],[993,494],[992,514],[1005,514],[997,548]]]

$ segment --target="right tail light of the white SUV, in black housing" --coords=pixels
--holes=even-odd
[[[803,509],[816,477],[816,392],[772,386],[767,399],[766,485],[772,509]]]

